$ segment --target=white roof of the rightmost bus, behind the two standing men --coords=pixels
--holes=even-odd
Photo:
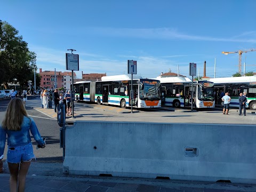
[[[256,82],[256,76],[210,78],[209,81],[213,82],[213,83],[246,83],[246,82]]]

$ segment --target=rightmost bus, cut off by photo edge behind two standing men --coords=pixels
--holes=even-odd
[[[230,107],[239,107],[239,93],[246,92],[246,108],[256,109],[256,76],[211,78],[214,83],[215,104],[221,105],[220,93],[229,92]]]

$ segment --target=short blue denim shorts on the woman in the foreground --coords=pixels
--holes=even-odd
[[[33,158],[35,159],[35,155],[33,153],[33,147],[31,142],[25,146],[8,146],[7,162],[9,163],[30,162]]]

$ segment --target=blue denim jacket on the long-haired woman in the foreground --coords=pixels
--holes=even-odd
[[[9,147],[25,146],[31,142],[30,133],[39,145],[44,145],[44,141],[37,129],[33,118],[24,116],[19,131],[6,130],[0,125],[0,156],[4,154],[5,140],[7,134],[7,145]]]

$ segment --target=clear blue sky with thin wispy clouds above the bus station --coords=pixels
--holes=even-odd
[[[83,73],[127,73],[155,78],[171,69],[189,77],[189,62],[200,76],[229,77],[238,54],[256,49],[256,1],[2,1],[0,19],[19,30],[42,70],[67,71],[67,49],[79,54]],[[242,71],[256,72],[256,51],[242,54]]]

